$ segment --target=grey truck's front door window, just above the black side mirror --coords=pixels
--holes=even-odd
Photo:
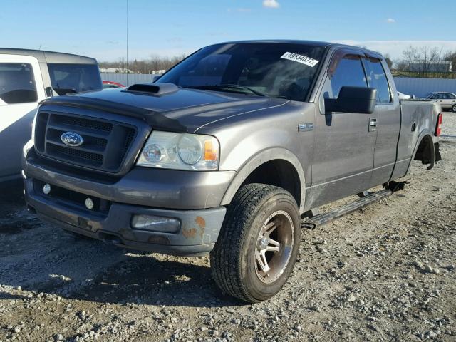
[[[323,94],[325,98],[338,98],[343,86],[367,87],[361,59],[356,55],[346,55],[339,61],[333,76],[328,79],[329,85]]]

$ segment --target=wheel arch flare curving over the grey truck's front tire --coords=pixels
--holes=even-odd
[[[296,199],[299,212],[303,212],[306,199],[306,178],[303,167],[296,155],[280,147],[263,150],[245,162],[230,183],[221,204],[229,204],[242,185],[258,182],[255,176],[261,174],[262,170],[269,170],[266,169],[267,167],[274,167],[282,178],[278,180],[281,183],[279,185],[276,180],[277,175],[272,175],[271,182],[266,184],[282,186],[288,190]],[[283,177],[290,177],[290,179]]]

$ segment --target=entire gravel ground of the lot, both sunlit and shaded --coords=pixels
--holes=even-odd
[[[314,231],[273,299],[214,285],[209,258],[81,240],[0,194],[0,342],[456,341],[456,114],[443,161],[405,190]]]

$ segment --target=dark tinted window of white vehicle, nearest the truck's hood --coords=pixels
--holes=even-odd
[[[100,71],[96,64],[48,63],[51,85],[58,95],[100,90]]]

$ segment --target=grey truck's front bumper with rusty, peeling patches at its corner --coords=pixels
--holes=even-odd
[[[120,247],[174,255],[201,255],[212,250],[226,213],[220,202],[234,176],[234,172],[142,169],[132,170],[112,184],[95,182],[45,167],[33,148],[24,150],[22,164],[27,205],[44,220]],[[202,173],[206,177],[201,177]],[[56,187],[77,198],[90,197],[109,206],[103,212],[89,210],[84,202],[53,197],[52,190],[45,195],[37,186],[43,182],[51,189]],[[160,227],[154,232],[133,229],[132,217],[138,214],[178,219],[180,229],[176,233],[160,232]]]

